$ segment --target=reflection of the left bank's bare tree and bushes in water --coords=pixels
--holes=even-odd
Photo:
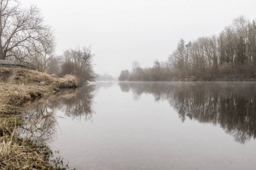
[[[56,111],[61,110],[65,116],[91,120],[94,110],[93,85],[79,89],[67,89],[44,97],[29,104],[24,110],[24,125],[19,129],[25,139],[45,142],[53,138],[57,128]]]

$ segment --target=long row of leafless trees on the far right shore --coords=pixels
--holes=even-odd
[[[141,68],[133,63],[119,81],[235,81],[256,80],[256,24],[237,17],[218,36],[181,39],[168,60]]]

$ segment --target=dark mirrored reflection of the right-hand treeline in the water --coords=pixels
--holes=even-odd
[[[186,119],[220,125],[244,144],[256,137],[255,83],[119,83],[121,91],[167,100]]]

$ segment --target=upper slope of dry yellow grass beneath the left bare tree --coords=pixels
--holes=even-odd
[[[13,113],[26,101],[55,93],[60,88],[77,87],[77,78],[59,78],[38,71],[0,68],[0,114]]]

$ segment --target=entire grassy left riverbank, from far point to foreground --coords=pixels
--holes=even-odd
[[[0,169],[63,169],[60,160],[51,162],[48,146],[22,138],[18,129],[24,124],[21,113],[26,102],[77,86],[71,75],[59,78],[27,69],[0,68]]]

